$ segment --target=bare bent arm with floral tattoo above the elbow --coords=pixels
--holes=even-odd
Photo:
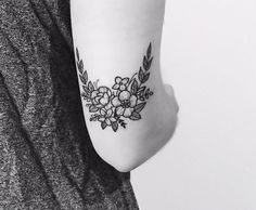
[[[77,73],[98,154],[119,171],[155,155],[177,123],[161,77],[164,0],[72,0]]]

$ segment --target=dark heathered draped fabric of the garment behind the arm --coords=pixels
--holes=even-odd
[[[139,209],[87,132],[68,0],[0,1],[0,209]]]

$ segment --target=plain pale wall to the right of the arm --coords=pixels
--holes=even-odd
[[[131,173],[141,210],[256,210],[256,1],[167,0],[171,142]]]

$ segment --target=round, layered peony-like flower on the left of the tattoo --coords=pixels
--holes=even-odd
[[[91,92],[91,102],[97,108],[111,108],[111,97],[112,92],[107,87],[100,87],[98,90]]]

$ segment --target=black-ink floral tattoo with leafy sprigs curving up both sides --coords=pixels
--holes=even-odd
[[[144,84],[150,78],[153,61],[151,54],[152,44],[150,43],[138,73],[131,78],[117,76],[114,86],[107,88],[99,87],[99,80],[95,82],[88,80],[88,73],[84,70],[84,62],[76,49],[76,65],[82,84],[81,96],[91,113],[90,121],[99,121],[103,130],[111,127],[116,132],[119,126],[126,128],[127,119],[141,119],[140,113],[153,95],[153,91]]]

